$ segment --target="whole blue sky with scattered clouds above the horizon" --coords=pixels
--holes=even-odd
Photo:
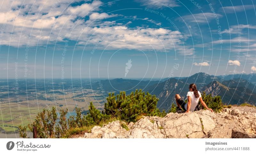
[[[1,3],[0,78],[256,72],[255,0]]]

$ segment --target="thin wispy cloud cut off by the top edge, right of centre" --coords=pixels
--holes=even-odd
[[[180,6],[177,4],[176,0],[136,0],[139,3],[142,3],[142,6],[161,9],[166,6],[169,7],[177,7]]]

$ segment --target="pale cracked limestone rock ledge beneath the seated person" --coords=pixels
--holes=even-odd
[[[80,138],[256,138],[256,108],[232,107],[221,113],[200,110],[169,113],[164,118],[143,117],[131,122],[113,121],[95,126]]]

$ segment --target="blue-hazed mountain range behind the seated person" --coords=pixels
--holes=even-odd
[[[255,104],[256,100],[256,74],[234,74],[214,76],[207,73],[196,73],[189,77],[165,78],[159,81],[143,81],[131,79],[100,80],[91,85],[93,90],[106,92],[126,91],[130,94],[135,89],[143,89],[159,98],[157,107],[169,110],[175,103],[175,94],[186,99],[189,84],[195,83],[197,89],[212,96],[221,96],[223,104],[242,104],[244,102]]]

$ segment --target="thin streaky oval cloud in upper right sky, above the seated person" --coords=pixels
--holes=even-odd
[[[220,14],[216,13],[216,15],[218,16],[218,18],[222,17],[222,15]],[[184,19],[185,22],[197,22],[197,23],[207,23],[207,21],[210,22],[210,20],[215,19],[214,14],[210,12],[186,15],[186,16],[182,16],[181,18]]]

